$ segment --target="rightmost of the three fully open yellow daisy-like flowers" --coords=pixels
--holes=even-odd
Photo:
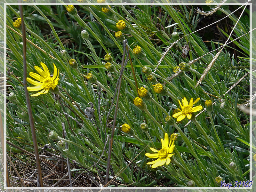
[[[178,112],[178,113],[173,114],[172,117],[177,118],[177,121],[181,121],[185,117],[188,117],[188,119],[191,119],[192,112],[200,111],[203,108],[201,105],[193,107],[193,105],[195,103],[197,103],[199,100],[200,100],[200,98],[197,98],[193,102],[193,98],[191,98],[190,101],[189,101],[189,104],[188,104],[188,100],[186,99],[186,97],[184,97],[182,99],[182,105],[181,105],[180,100],[179,100],[181,111]]]

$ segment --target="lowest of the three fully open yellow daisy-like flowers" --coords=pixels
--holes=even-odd
[[[170,140],[169,143],[169,137],[168,134],[165,133],[164,134],[164,140],[161,138],[161,142],[162,142],[162,149],[160,150],[156,150],[154,148],[150,148],[153,152],[153,154],[151,153],[146,153],[145,156],[149,157],[149,158],[158,158],[155,161],[151,161],[148,162],[147,164],[153,164],[151,167],[152,168],[156,168],[158,166],[162,166],[165,163],[168,165],[171,162],[171,157],[174,155],[173,149],[175,147],[174,145],[174,139]],[[172,153],[172,154],[171,154]]]

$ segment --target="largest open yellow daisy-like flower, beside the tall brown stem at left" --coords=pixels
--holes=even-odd
[[[60,69],[58,69],[58,71],[57,71],[57,68],[54,65],[54,63],[53,63],[53,66],[54,66],[53,76],[51,76],[51,74],[49,72],[49,69],[46,67],[46,65],[44,63],[41,62],[40,64],[42,65],[44,70],[42,70],[38,66],[35,66],[35,69],[39,73],[39,75],[36,74],[36,73],[33,73],[33,72],[29,73],[29,75],[31,77],[38,80],[39,82],[35,81],[35,80],[32,80],[29,77],[27,78],[28,83],[36,85],[35,87],[28,87],[28,91],[40,91],[40,90],[43,89],[42,91],[31,95],[31,96],[34,96],[34,97],[38,96],[38,95],[41,95],[41,94],[48,93],[49,89],[54,89],[58,85],[58,82],[60,80],[59,79]]]

